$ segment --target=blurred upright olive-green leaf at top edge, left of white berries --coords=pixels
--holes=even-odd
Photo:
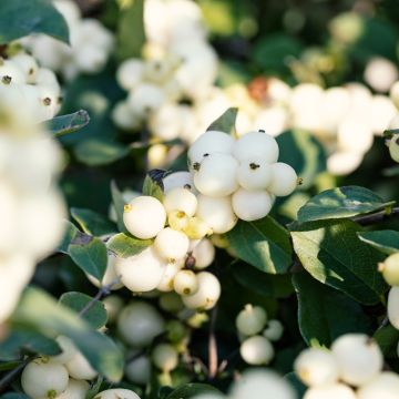
[[[117,55],[120,60],[140,58],[145,43],[144,0],[131,0],[121,10],[117,25]]]

